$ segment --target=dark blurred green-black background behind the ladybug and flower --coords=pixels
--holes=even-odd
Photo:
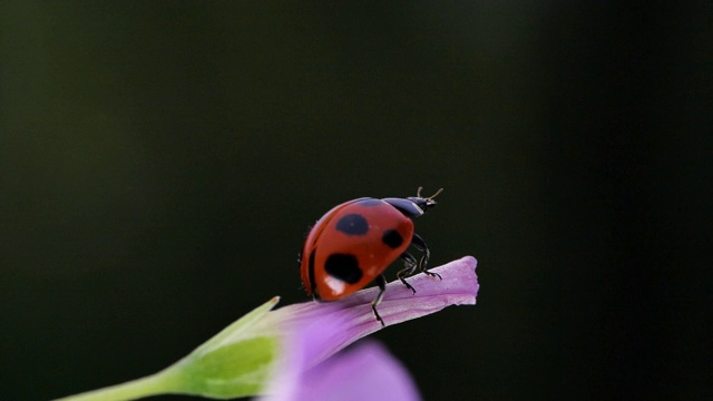
[[[432,265],[481,284],[374,335],[426,400],[711,399],[693,3],[2,2],[0,399],[307,301],[306,226],[418,186]]]

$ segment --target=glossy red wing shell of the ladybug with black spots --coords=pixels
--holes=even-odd
[[[302,284],[318,299],[342,299],[379,276],[412,236],[413,222],[382,199],[343,203],[310,231],[300,265]]]

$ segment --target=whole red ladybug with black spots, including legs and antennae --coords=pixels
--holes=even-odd
[[[300,257],[302,285],[307,295],[318,301],[336,301],[377,282],[379,294],[371,302],[377,321],[384,326],[377,311],[385,292],[383,271],[397,258],[404,267],[397,277],[413,291],[406,281],[417,268],[430,276],[431,255],[423,239],[414,233],[412,218],[421,216],[436,206],[433,198],[443,188],[429,197],[421,196],[421,187],[416,196],[407,198],[362,197],[345,202],[329,211],[310,229]],[[419,261],[407,248],[413,245],[422,252]]]

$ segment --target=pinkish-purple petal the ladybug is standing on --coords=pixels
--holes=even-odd
[[[409,277],[416,294],[399,281],[389,283],[383,301],[378,306],[381,317],[387,325],[393,325],[449,305],[473,305],[478,294],[476,266],[476,258],[466,256],[431,270],[439,273],[442,281],[426,274]],[[336,302],[289,305],[268,312],[256,324],[264,331],[281,331],[282,334],[294,336],[318,322],[344,322],[342,330],[322,332],[319,348],[309,354],[310,363],[305,364],[305,368],[313,366],[354,341],[382,329],[370,305],[377,293],[378,288],[373,287]]]

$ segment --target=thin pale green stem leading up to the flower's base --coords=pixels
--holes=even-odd
[[[56,401],[125,401],[177,390],[170,369],[121,384],[65,397]]]

